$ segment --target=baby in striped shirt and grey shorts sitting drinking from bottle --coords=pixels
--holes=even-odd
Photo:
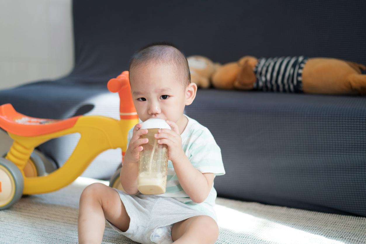
[[[120,173],[122,192],[101,183],[80,197],[79,243],[101,243],[105,219],[117,232],[139,243],[215,243],[219,236],[213,206],[213,180],[225,173],[221,151],[210,131],[183,114],[197,92],[186,57],[175,46],[158,43],[132,56],[130,83],[139,119],[160,118],[172,128],[155,138],[168,146],[167,190],[143,195],[137,189],[141,123],[128,132]]]

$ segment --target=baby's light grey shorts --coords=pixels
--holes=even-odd
[[[190,208],[184,203],[157,195],[128,195],[115,189],[130,216],[130,227],[122,232],[116,226],[107,222],[114,230],[139,243],[172,243],[172,225],[184,219],[207,215]]]

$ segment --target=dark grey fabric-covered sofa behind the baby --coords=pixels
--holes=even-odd
[[[154,41],[227,63],[256,57],[336,57],[366,64],[365,1],[98,1],[73,3],[75,67],[52,82],[0,91],[33,117],[119,117],[107,82]],[[366,98],[198,90],[188,116],[210,129],[227,174],[218,195],[329,213],[366,216]],[[78,140],[39,146],[59,165]],[[120,151],[98,156],[83,176],[108,179]]]

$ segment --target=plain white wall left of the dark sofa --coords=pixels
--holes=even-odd
[[[0,0],[0,89],[68,74],[71,0]]]

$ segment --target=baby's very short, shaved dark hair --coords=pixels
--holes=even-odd
[[[182,74],[180,82],[184,87],[191,83],[186,56],[173,44],[168,42],[155,42],[144,46],[132,55],[128,70],[131,72],[135,67],[150,62],[172,63]]]

